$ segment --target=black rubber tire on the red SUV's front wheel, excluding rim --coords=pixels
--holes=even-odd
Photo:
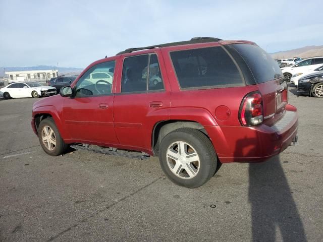
[[[55,146],[52,144],[49,144],[49,147],[52,148],[51,150],[48,148],[48,141],[44,141],[42,140],[42,137],[44,135],[44,128],[47,129],[47,127],[49,127],[53,133],[54,136],[51,136],[52,138],[55,138],[56,144]],[[41,120],[39,127],[38,127],[38,139],[39,139],[39,143],[42,147],[42,149],[48,154],[48,155],[52,155],[52,156],[57,156],[57,155],[61,155],[63,154],[67,148],[68,145],[63,141],[54,120],[50,117],[50,118],[45,118],[43,120]]]

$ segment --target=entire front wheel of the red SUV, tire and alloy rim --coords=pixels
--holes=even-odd
[[[48,155],[61,155],[68,147],[63,141],[52,118],[46,118],[40,122],[38,127],[38,138],[42,149]]]

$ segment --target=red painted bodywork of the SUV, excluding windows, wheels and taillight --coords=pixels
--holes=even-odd
[[[74,87],[80,77],[94,65],[115,60],[112,94],[43,98],[33,106],[32,128],[37,134],[34,117],[48,113],[66,143],[112,146],[153,155],[152,133],[156,124],[167,120],[190,120],[204,127],[221,162],[263,161],[283,151],[297,134],[297,115],[281,132],[272,128],[284,117],[286,110],[296,112],[296,108],[289,104],[276,110],[276,99],[273,97],[279,91],[279,81],[239,87],[181,90],[170,59],[170,51],[232,43],[254,44],[243,40],[225,40],[147,49],[100,59],[88,66],[71,86]],[[121,93],[124,58],[146,53],[157,54],[165,90]],[[262,95],[264,116],[275,115],[259,126],[241,126],[238,118],[241,101],[246,94],[254,91]],[[99,108],[100,104],[106,108]],[[222,107],[218,114],[220,118],[215,115],[217,107]],[[225,113],[221,113],[221,110]]]

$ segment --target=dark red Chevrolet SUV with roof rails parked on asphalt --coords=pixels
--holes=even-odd
[[[68,144],[140,151],[196,188],[222,163],[264,161],[295,143],[298,115],[287,102],[278,64],[255,43],[197,37],[92,63],[33,105],[31,125],[49,155]]]

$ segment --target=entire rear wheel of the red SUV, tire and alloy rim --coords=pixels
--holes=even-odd
[[[217,155],[206,135],[195,129],[181,128],[161,141],[159,163],[175,184],[197,188],[216,172]]]

